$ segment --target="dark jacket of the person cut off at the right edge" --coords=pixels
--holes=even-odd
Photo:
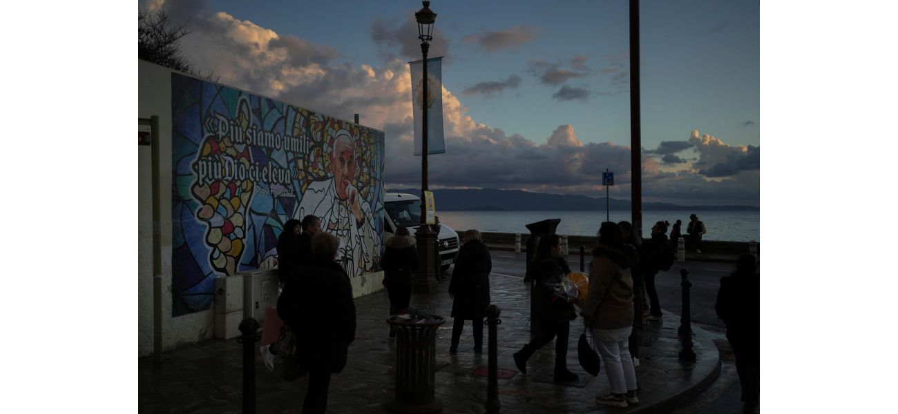
[[[761,283],[758,275],[734,272],[720,278],[720,290],[714,310],[726,323],[727,334],[760,335]]]

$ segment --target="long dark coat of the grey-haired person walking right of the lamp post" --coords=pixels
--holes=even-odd
[[[453,296],[452,317],[482,318],[489,306],[489,272],[493,269],[489,247],[471,240],[458,250],[449,294]]]

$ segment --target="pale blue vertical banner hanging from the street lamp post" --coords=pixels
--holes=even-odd
[[[427,154],[445,153],[443,140],[443,57],[427,59],[427,99],[423,96],[423,60],[409,62],[415,114],[415,155],[421,155],[421,109],[427,103]]]

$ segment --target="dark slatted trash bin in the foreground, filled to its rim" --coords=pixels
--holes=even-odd
[[[403,315],[404,316],[404,315]],[[396,332],[396,396],[387,410],[400,413],[436,413],[443,401],[434,397],[436,384],[436,329],[442,316],[403,319],[391,315],[387,323]]]

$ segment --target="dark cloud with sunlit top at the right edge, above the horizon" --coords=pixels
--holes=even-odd
[[[698,173],[707,177],[730,177],[741,171],[760,170],[761,149],[752,145],[726,144],[709,134],[699,135],[698,130],[690,134],[689,142],[695,145],[700,157],[693,165]]]

